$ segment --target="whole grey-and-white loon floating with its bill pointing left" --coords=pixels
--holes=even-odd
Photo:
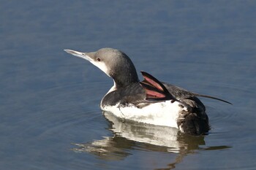
[[[114,85],[102,98],[100,108],[122,120],[170,126],[184,134],[203,135],[208,134],[210,125],[206,107],[197,97],[231,104],[160,82],[147,72],[141,72],[144,80],[140,81],[134,64],[121,50],[108,47],[91,53],[64,51],[86,59],[113,78]]]

